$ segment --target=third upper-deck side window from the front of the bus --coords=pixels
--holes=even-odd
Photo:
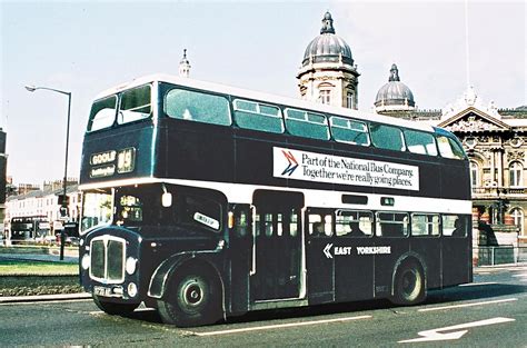
[[[298,109],[286,109],[286,128],[294,136],[329,139],[326,116]]]

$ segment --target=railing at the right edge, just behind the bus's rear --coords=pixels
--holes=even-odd
[[[474,247],[475,266],[517,265],[527,262],[527,247]]]

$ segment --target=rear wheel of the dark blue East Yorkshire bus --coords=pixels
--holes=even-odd
[[[404,264],[397,270],[391,301],[397,305],[417,305],[425,300],[426,287],[422,269],[416,262]]]

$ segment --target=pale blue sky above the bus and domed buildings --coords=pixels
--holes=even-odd
[[[469,1],[470,84],[498,108],[526,101],[525,1]],[[63,176],[67,97],[72,93],[70,177],[78,177],[91,100],[136,77],[178,73],[299,96],[296,73],[329,10],[351,48],[359,109],[370,111],[391,63],[421,109],[467,87],[464,1],[6,1],[0,0],[0,126],[16,183]]]

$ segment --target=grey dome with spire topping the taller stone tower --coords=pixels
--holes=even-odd
[[[344,62],[354,64],[351,49],[348,43],[335,34],[331,13],[326,12],[322,18],[320,34],[309,42],[304,53],[302,67],[318,62]]]

